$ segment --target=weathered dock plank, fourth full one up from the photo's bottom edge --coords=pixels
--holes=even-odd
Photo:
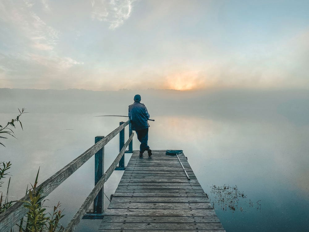
[[[203,203],[138,203],[138,202],[117,202],[112,201],[108,208],[128,208],[128,209],[212,209],[212,205]]]

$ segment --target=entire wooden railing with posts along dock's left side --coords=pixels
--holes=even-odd
[[[47,196],[55,188],[57,188],[63,181],[65,181],[71,174],[73,174],[78,168],[80,168],[86,161],[88,161],[94,154],[95,157],[95,187],[88,195],[82,206],[78,209],[77,213],[74,215],[70,223],[68,224],[65,231],[74,231],[75,227],[78,225],[79,221],[82,219],[83,215],[86,213],[91,203],[94,202],[94,213],[102,213],[103,211],[103,188],[104,183],[111,176],[112,172],[116,170],[124,169],[124,154],[125,149],[129,145],[129,150],[132,151],[132,139],[134,133],[129,130],[129,139],[124,143],[124,133],[125,127],[130,123],[130,120],[126,122],[120,122],[120,126],[114,131],[109,133],[107,136],[97,136],[95,144],[87,149],[83,154],[78,156],[76,159],[71,161],[57,173],[52,175],[50,178],[45,180],[40,186],[41,191]],[[120,133],[120,152],[116,159],[112,162],[108,170],[103,174],[104,170],[104,146],[114,138],[118,133]],[[119,167],[117,169],[117,164]],[[98,193],[101,191],[101,194]],[[96,199],[95,199],[96,198]],[[13,206],[8,208],[4,213],[0,215],[0,231],[6,232],[10,231],[13,226],[20,221],[27,213],[28,209],[23,206],[22,201],[29,201],[29,196],[25,195]]]

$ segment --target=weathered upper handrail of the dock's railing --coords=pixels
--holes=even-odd
[[[112,138],[114,138],[129,123],[130,120],[117,127],[102,140],[95,143],[93,146],[91,146],[91,148],[87,149],[80,156],[75,158],[57,173],[53,174],[51,177],[41,183],[37,188],[42,187],[41,191],[44,192],[46,196],[49,195],[70,175],[72,175],[76,170],[78,170],[78,168],[80,168],[86,161],[88,161],[96,152],[103,148],[104,145],[106,145],[110,140],[112,140]],[[4,213],[0,214],[0,231],[11,230],[11,228],[13,228],[13,226],[15,226],[15,224],[28,213],[28,209],[23,207],[24,203],[22,201],[29,200],[29,196],[25,195],[23,198],[13,204],[10,208],[8,208]]]

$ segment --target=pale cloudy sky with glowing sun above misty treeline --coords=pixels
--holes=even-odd
[[[309,89],[309,1],[0,0],[0,88]]]

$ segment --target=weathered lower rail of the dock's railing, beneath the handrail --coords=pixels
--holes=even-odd
[[[98,192],[103,187],[104,183],[108,180],[108,178],[111,176],[112,172],[115,170],[117,164],[119,163],[121,157],[125,153],[125,148],[129,145],[131,140],[133,139],[134,133],[129,137],[128,141],[124,144],[122,147],[120,153],[116,157],[116,159],[112,162],[108,170],[103,174],[101,179],[98,181],[98,183],[95,185],[91,193],[88,195],[82,206],[78,209],[78,211],[75,213],[72,220],[69,222],[68,226],[66,227],[66,232],[74,231],[80,220],[82,219],[83,215],[87,212],[88,208],[90,207],[91,203],[95,199],[95,196],[98,195]],[[99,143],[99,142],[98,142]]]

